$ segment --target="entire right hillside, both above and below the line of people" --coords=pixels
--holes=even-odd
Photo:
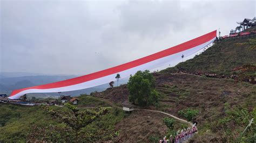
[[[200,131],[194,137],[194,141],[226,142],[235,141],[236,138],[241,139],[241,132],[248,125],[249,120],[256,116],[255,85],[237,83],[232,79],[208,78],[176,72],[182,68],[188,73],[231,75],[233,68],[247,63],[256,65],[254,40],[254,37],[250,37],[220,41],[194,59],[154,73],[157,90],[160,93],[160,104],[158,108],[151,106],[150,109],[165,111],[178,117],[180,110],[188,108],[199,110],[200,114],[196,120]],[[129,90],[126,85],[121,85],[113,90],[93,92],[91,95],[120,105],[128,99]],[[255,131],[253,124],[243,138],[247,141],[255,140]],[[126,136],[124,138],[127,139]]]

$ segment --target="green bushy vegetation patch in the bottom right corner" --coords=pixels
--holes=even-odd
[[[214,122],[211,130],[224,131],[224,137],[231,142],[254,142],[256,140],[256,108],[248,110],[240,106],[232,109],[230,104],[226,103],[225,113],[225,117]]]

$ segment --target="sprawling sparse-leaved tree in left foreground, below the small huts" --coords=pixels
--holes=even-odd
[[[35,132],[28,135],[29,140],[46,141],[46,142],[72,142],[75,137],[76,142],[81,142],[84,134],[80,134],[80,130],[91,124],[100,116],[105,115],[108,109],[95,108],[80,110],[76,106],[66,103],[66,110],[55,111],[45,106],[45,110],[57,119],[62,126],[50,125],[48,127],[34,127]],[[79,138],[83,136],[83,138]],[[65,137],[65,138],[64,138]]]

